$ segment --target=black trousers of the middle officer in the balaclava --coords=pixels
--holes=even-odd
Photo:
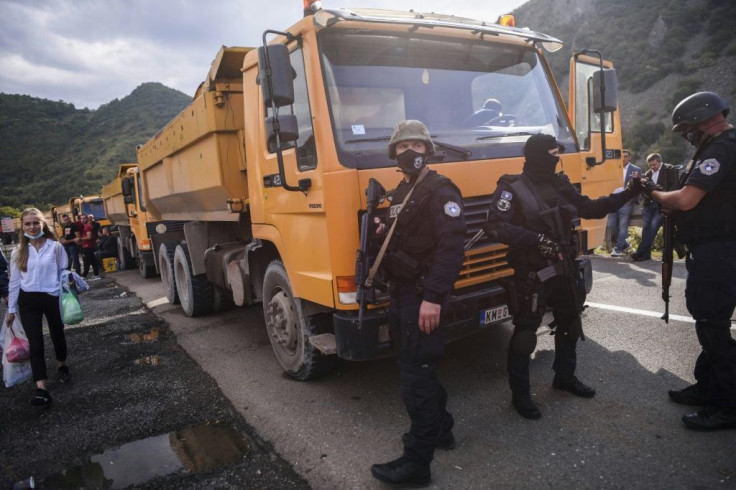
[[[529,271],[519,269],[514,277],[517,285],[518,310],[514,313],[514,333],[509,342],[507,369],[512,393],[529,395],[529,356],[537,346],[537,329],[547,307],[557,324],[555,333],[555,360],[552,369],[555,378],[569,381],[575,376],[580,315],[575,314],[562,276],[545,282],[530,278]]]

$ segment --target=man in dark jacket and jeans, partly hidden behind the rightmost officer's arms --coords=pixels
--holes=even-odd
[[[677,189],[677,168],[669,163],[662,163],[662,155],[652,153],[647,157],[647,165],[649,170],[644,177],[651,180],[659,187],[666,191]],[[657,236],[659,228],[662,226],[664,217],[659,212],[659,204],[652,201],[648,197],[644,197],[641,210],[642,227],[641,242],[636,248],[636,252],[631,254],[631,258],[636,262],[652,259],[652,243]]]

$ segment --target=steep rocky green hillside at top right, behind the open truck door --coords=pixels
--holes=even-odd
[[[670,131],[687,95],[709,90],[736,106],[733,0],[530,0],[513,13],[517,27],[565,43],[549,54],[565,97],[572,53],[594,49],[613,62],[624,146],[639,165],[654,151],[674,164],[692,154]]]

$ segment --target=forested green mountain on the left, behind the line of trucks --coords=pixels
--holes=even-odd
[[[0,209],[42,210],[71,196],[99,194],[121,163],[191,97],[144,83],[95,111],[27,95],[0,94]]]

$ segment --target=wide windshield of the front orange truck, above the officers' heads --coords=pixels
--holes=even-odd
[[[393,166],[394,125],[424,122],[434,163],[523,156],[527,138],[575,142],[537,53],[525,46],[417,33],[324,29],[319,34],[341,163]]]

